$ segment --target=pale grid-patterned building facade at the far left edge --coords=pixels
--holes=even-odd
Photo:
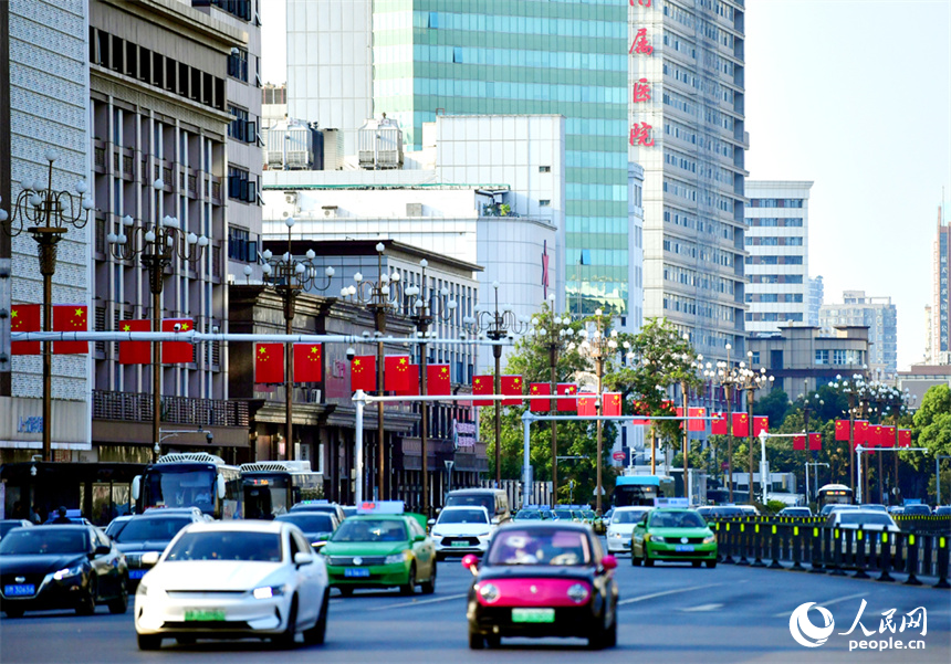
[[[87,12],[86,0],[0,2],[0,207],[10,218],[24,183],[48,187],[51,148],[54,191],[75,193],[79,180],[88,181]],[[18,212],[14,229],[20,220]],[[44,425],[56,461],[86,459],[91,447],[90,356],[53,357],[51,422],[43,422],[41,357],[10,356],[11,306],[43,302],[38,245],[25,231],[31,225],[23,220],[15,238],[0,230],[0,464],[40,453]],[[93,225],[70,228],[59,244],[54,304],[92,304]],[[7,498],[15,499],[10,492]]]

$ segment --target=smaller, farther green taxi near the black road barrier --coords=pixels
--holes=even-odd
[[[631,565],[652,567],[655,560],[683,560],[717,567],[717,537],[694,509],[657,507],[634,527]]]

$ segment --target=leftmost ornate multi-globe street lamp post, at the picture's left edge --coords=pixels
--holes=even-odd
[[[56,245],[69,231],[70,226],[82,229],[90,220],[90,211],[95,207],[92,199],[86,199],[87,186],[85,180],[76,183],[76,194],[70,191],[53,191],[53,162],[59,154],[46,150],[44,158],[50,162],[46,171],[46,187],[42,180],[24,182],[23,190],[17,197],[11,213],[0,209],[0,224],[3,230],[15,238],[27,232],[39,245],[40,274],[43,275],[43,331],[53,329],[53,274],[56,272]],[[9,224],[6,223],[9,220]],[[53,461],[52,443],[52,345],[43,341],[43,459]]]

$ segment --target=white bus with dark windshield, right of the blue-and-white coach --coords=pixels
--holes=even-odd
[[[310,461],[259,461],[241,464],[244,518],[272,519],[302,500],[324,497],[324,477]]]

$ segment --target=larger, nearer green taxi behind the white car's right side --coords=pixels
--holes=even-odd
[[[426,517],[404,513],[401,500],[360,506],[334,531],[321,551],[333,588],[344,596],[357,588],[399,588],[412,594],[436,591],[436,548]]]

